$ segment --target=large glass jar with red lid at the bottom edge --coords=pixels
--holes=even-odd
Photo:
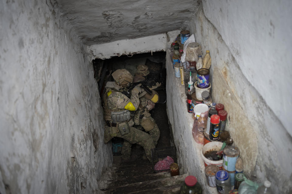
[[[187,176],[180,187],[180,194],[202,194],[202,187],[195,176]]]

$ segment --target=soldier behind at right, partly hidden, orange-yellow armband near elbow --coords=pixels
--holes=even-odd
[[[146,65],[138,65],[137,71],[134,77],[134,82],[141,82],[146,79],[146,76],[149,74],[148,67]],[[156,83],[155,86],[152,86],[150,90],[152,90],[152,94],[148,94],[145,91],[142,91],[139,95],[140,104],[138,110],[134,115],[134,123],[135,125],[141,125],[146,132],[149,132],[151,135],[154,145],[157,145],[157,141],[160,136],[159,128],[155,122],[155,120],[151,117],[149,111],[155,107],[155,103],[159,101],[158,93],[153,90],[159,87],[161,84]]]

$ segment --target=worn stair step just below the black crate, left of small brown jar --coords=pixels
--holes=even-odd
[[[123,186],[128,185],[136,182],[144,182],[144,181],[150,181],[150,180],[157,180],[170,177],[169,172],[159,172],[159,173],[151,173],[146,175],[139,175],[139,176],[133,176],[130,178],[122,178],[122,179],[107,179],[107,180],[100,180],[98,182],[99,189],[105,189],[105,188],[113,188],[117,186]]]

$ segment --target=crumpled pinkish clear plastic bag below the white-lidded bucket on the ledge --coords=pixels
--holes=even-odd
[[[192,134],[193,134],[194,140],[199,144],[203,144],[203,141],[204,141],[203,132],[207,127],[207,119],[208,119],[208,111],[202,112],[200,114],[199,119],[194,120]]]

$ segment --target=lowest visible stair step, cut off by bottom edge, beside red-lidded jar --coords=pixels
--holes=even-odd
[[[153,189],[147,189],[143,191],[134,191],[128,194],[179,194],[180,193],[181,184],[171,185],[171,186],[163,186],[157,187]]]

